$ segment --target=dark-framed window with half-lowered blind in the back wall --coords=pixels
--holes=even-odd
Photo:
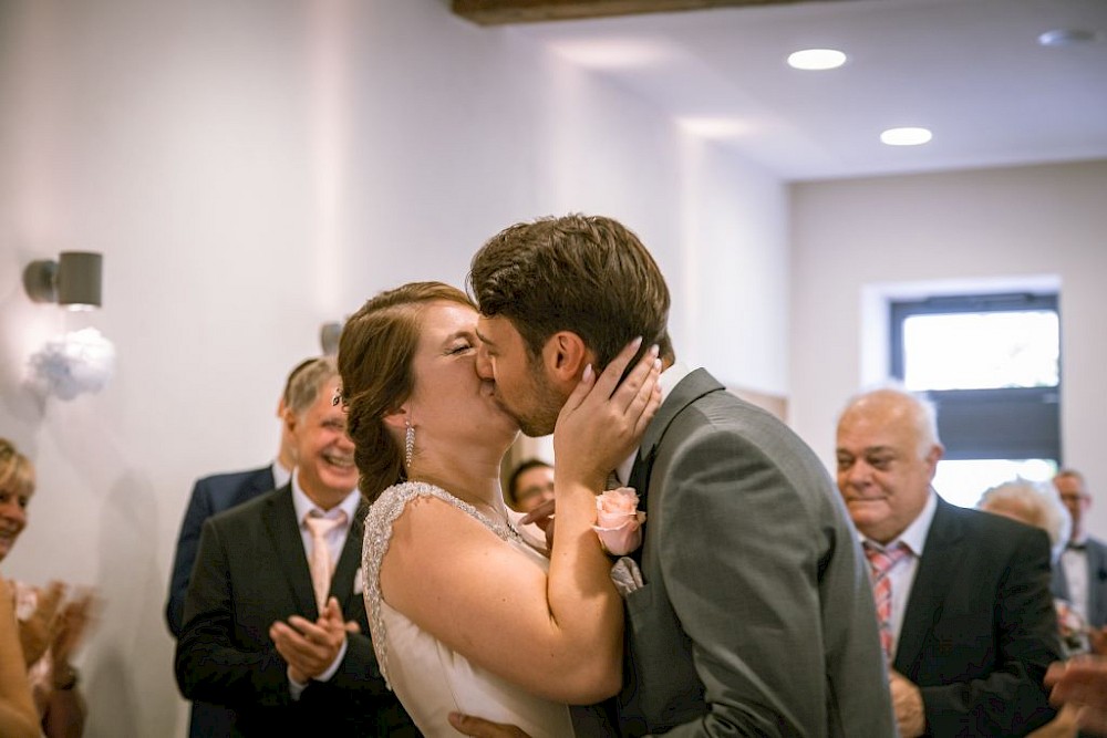
[[[1056,294],[892,302],[890,323],[892,375],[938,408],[942,497],[972,507],[1016,476],[1053,476],[1061,462]]]

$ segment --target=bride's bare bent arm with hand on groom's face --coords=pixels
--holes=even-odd
[[[660,403],[650,352],[615,389],[633,354],[628,347],[599,377],[586,376],[558,419],[548,575],[434,498],[408,503],[382,563],[393,607],[475,664],[557,701],[598,701],[621,682],[622,602],[591,526],[596,492]]]

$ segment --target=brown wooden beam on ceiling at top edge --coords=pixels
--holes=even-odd
[[[536,23],[706,8],[777,6],[804,0],[453,0],[453,11],[480,25]]]

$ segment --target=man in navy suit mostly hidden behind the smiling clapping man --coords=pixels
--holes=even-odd
[[[281,438],[273,462],[248,471],[204,477],[193,487],[188,508],[180,523],[177,550],[173,558],[173,572],[169,576],[169,596],[165,604],[165,620],[175,638],[180,636],[185,594],[188,591],[193,563],[196,561],[196,549],[199,545],[204,521],[217,512],[241,505],[277,487],[283,487],[291,477],[296,460],[292,455],[292,439],[283,423],[284,408],[293,377],[312,361],[314,360],[308,358],[300,362],[284,382],[284,389],[277,403],[277,417],[281,419]],[[190,738],[225,738],[230,735],[232,721],[234,714],[230,710],[218,705],[195,701],[188,723],[188,735]]]

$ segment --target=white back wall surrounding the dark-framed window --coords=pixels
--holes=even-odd
[[[830,466],[837,415],[876,377],[866,297],[889,283],[1059,281],[1064,462],[1107,534],[1107,162],[796,185],[790,419]],[[886,341],[881,331],[871,341]],[[956,361],[955,356],[950,357]]]

